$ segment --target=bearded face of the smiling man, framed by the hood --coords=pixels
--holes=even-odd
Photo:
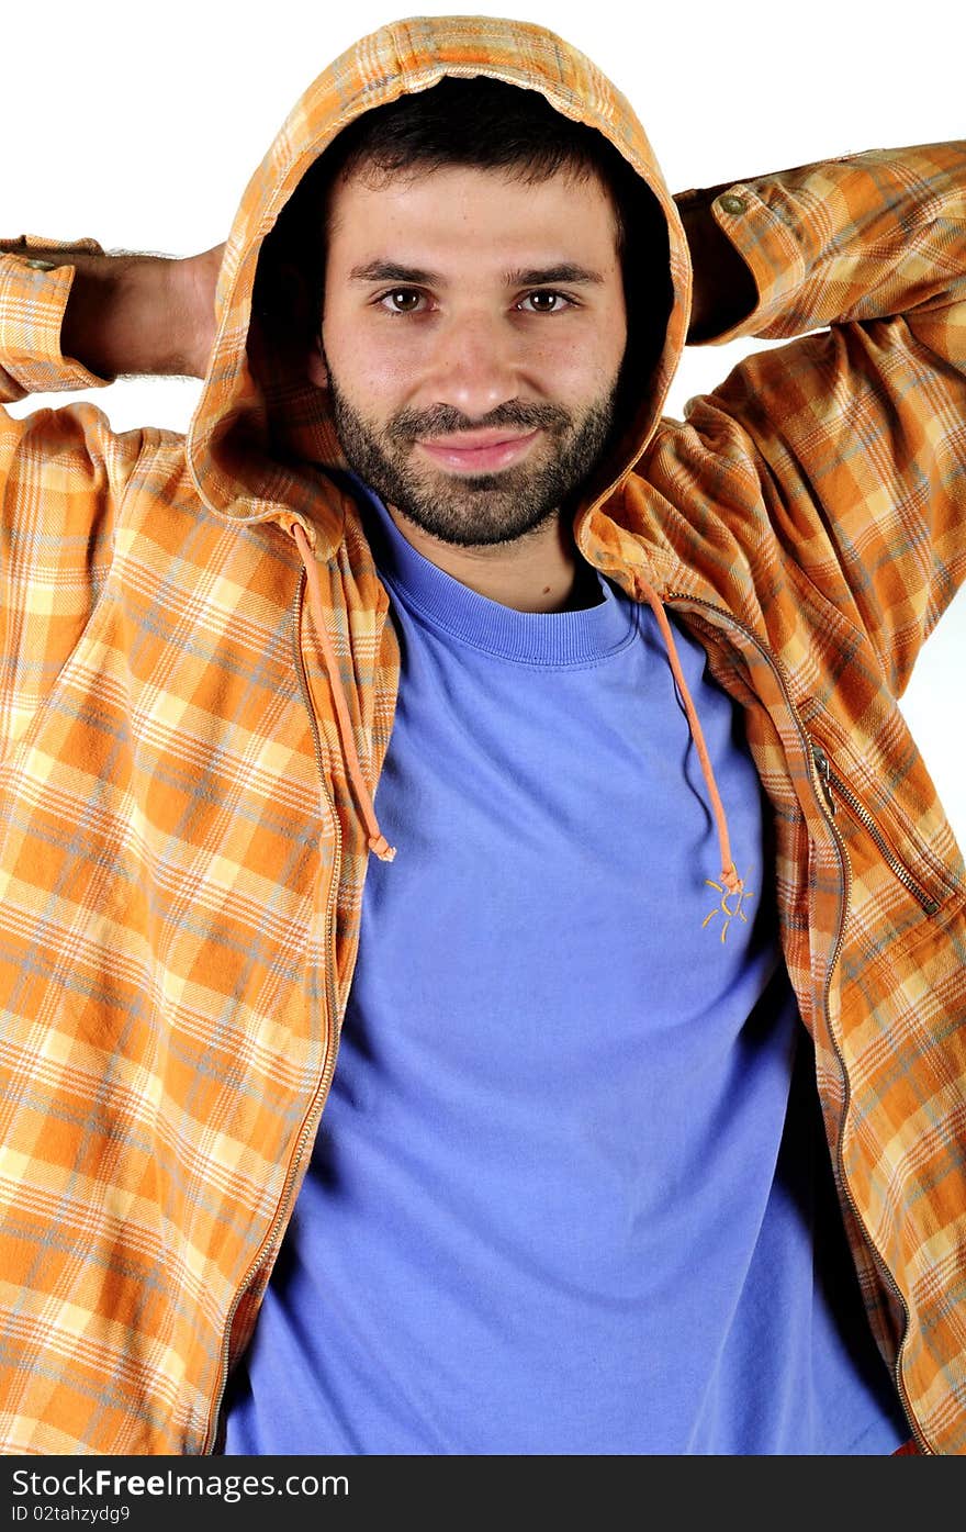
[[[603,453],[626,311],[596,176],[361,175],[331,202],[320,351],[351,467],[444,542],[543,525]]]

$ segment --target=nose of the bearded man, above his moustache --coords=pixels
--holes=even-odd
[[[436,401],[479,420],[519,392],[519,337],[505,316],[453,316],[438,332],[432,366]]]

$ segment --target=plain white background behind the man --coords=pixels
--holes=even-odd
[[[355,0],[20,0],[5,5],[0,233],[93,236],[185,256],[225,237],[289,107],[355,38],[456,5]],[[507,0],[576,43],[637,110],[672,192],[863,149],[961,138],[966,18],[951,0]],[[761,342],[687,351],[669,415]],[[775,345],[775,343],[772,343]],[[184,429],[201,385],[115,383],[87,395],[115,429]],[[12,408],[26,414],[44,395]],[[926,645],[903,711],[966,844],[960,745],[966,596]],[[958,679],[957,679],[958,677]]]

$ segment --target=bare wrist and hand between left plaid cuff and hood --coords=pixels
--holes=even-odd
[[[214,288],[225,247],[167,256],[32,254],[75,267],[61,351],[103,378],[204,377],[214,340]]]

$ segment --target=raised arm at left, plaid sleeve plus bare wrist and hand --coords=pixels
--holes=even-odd
[[[204,325],[191,352],[185,323],[205,293],[213,332],[216,254],[118,260],[92,241],[0,245],[0,400],[98,388],[121,371],[204,371]],[[194,282],[181,309],[170,300],[175,268]],[[0,409],[0,757],[86,630],[144,441],[141,430],[113,432],[89,403],[23,420]]]

